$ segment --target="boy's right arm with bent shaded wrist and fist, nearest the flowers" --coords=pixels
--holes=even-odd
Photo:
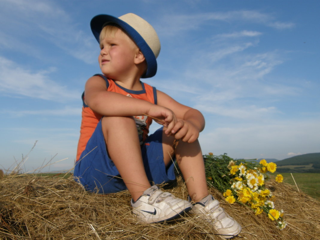
[[[185,142],[194,142],[199,137],[199,132],[204,129],[204,117],[198,110],[182,105],[164,92],[157,90],[157,104],[170,108],[178,121],[175,126],[165,131],[166,134],[174,134],[176,139]]]

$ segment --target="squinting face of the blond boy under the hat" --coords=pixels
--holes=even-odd
[[[103,74],[114,80],[130,77],[136,69],[134,57],[137,45],[121,29],[114,36],[105,36],[100,42],[99,65]]]

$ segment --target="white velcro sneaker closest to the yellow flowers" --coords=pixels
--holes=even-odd
[[[208,195],[200,202],[195,203],[190,212],[210,222],[223,238],[234,237],[241,231],[239,223],[219,206],[219,201],[214,199],[212,195]]]

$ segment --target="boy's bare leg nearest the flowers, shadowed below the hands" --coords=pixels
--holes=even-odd
[[[163,132],[164,164],[171,161],[173,155],[173,136],[166,136]],[[208,196],[207,182],[204,171],[204,160],[198,140],[193,143],[186,143],[179,140],[174,150],[177,163],[186,181],[189,196],[193,202],[198,202]]]

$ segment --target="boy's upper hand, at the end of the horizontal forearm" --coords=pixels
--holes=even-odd
[[[177,124],[177,117],[169,108],[153,105],[147,113],[156,123],[163,125],[165,134],[170,135],[173,127]]]

